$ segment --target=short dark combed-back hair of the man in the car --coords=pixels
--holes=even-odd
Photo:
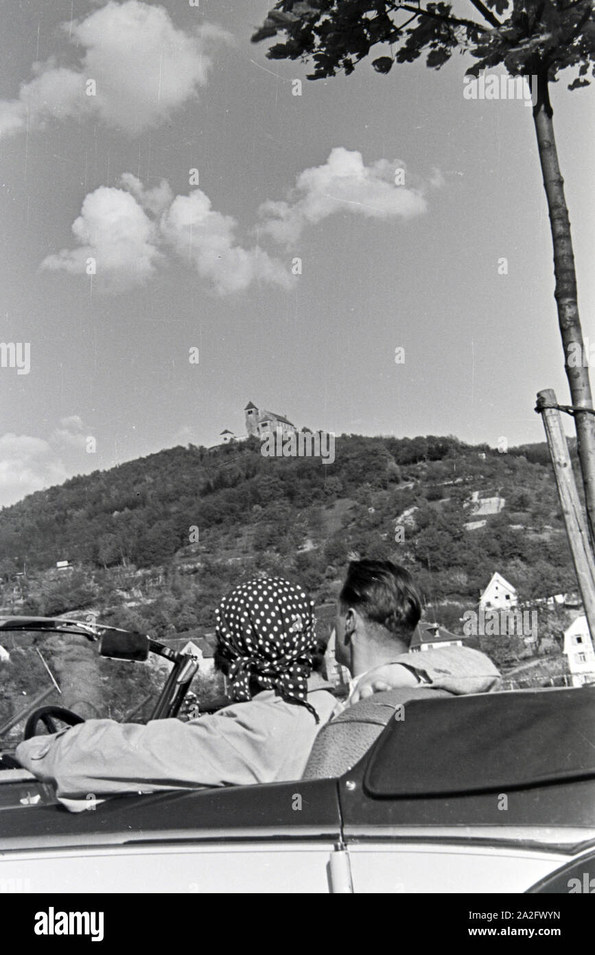
[[[352,561],[339,601],[407,643],[420,623],[421,600],[413,578],[392,561]]]

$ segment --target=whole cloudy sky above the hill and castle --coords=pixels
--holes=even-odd
[[[531,110],[463,96],[457,54],[308,81],[251,44],[269,6],[0,2],[0,506],[243,435],[249,401],[493,446],[569,401]],[[566,86],[595,343],[595,93]]]

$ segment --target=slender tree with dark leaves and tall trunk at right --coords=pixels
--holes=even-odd
[[[503,65],[511,76],[527,77],[533,100],[533,120],[544,178],[554,248],[555,298],[564,344],[576,422],[578,451],[585,485],[591,532],[595,529],[595,416],[584,360],[585,346],[577,303],[574,254],[564,180],[560,171],[549,84],[569,67],[578,76],[574,90],[595,75],[595,14],[593,0],[467,0],[471,19],[453,14],[443,0],[421,4],[389,0],[279,0],[253,41],[285,33],[285,42],[272,46],[270,59],[309,59],[309,79],[351,74],[378,44],[389,44],[390,55],[372,61],[380,74],[395,63],[411,63],[427,53],[426,65],[439,70],[452,53],[469,53],[477,60],[467,75]],[[478,16],[479,14],[479,16]],[[576,356],[579,361],[574,360]]]

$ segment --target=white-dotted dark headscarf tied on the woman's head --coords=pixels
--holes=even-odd
[[[250,680],[306,707],[316,643],[314,604],[281,577],[240,584],[215,610],[219,650],[231,661],[232,697],[250,700]]]

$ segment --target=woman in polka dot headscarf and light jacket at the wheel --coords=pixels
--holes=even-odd
[[[216,610],[232,706],[187,723],[87,720],[21,743],[17,759],[74,812],[114,794],[298,779],[337,703],[313,607],[282,578],[239,584]]]

